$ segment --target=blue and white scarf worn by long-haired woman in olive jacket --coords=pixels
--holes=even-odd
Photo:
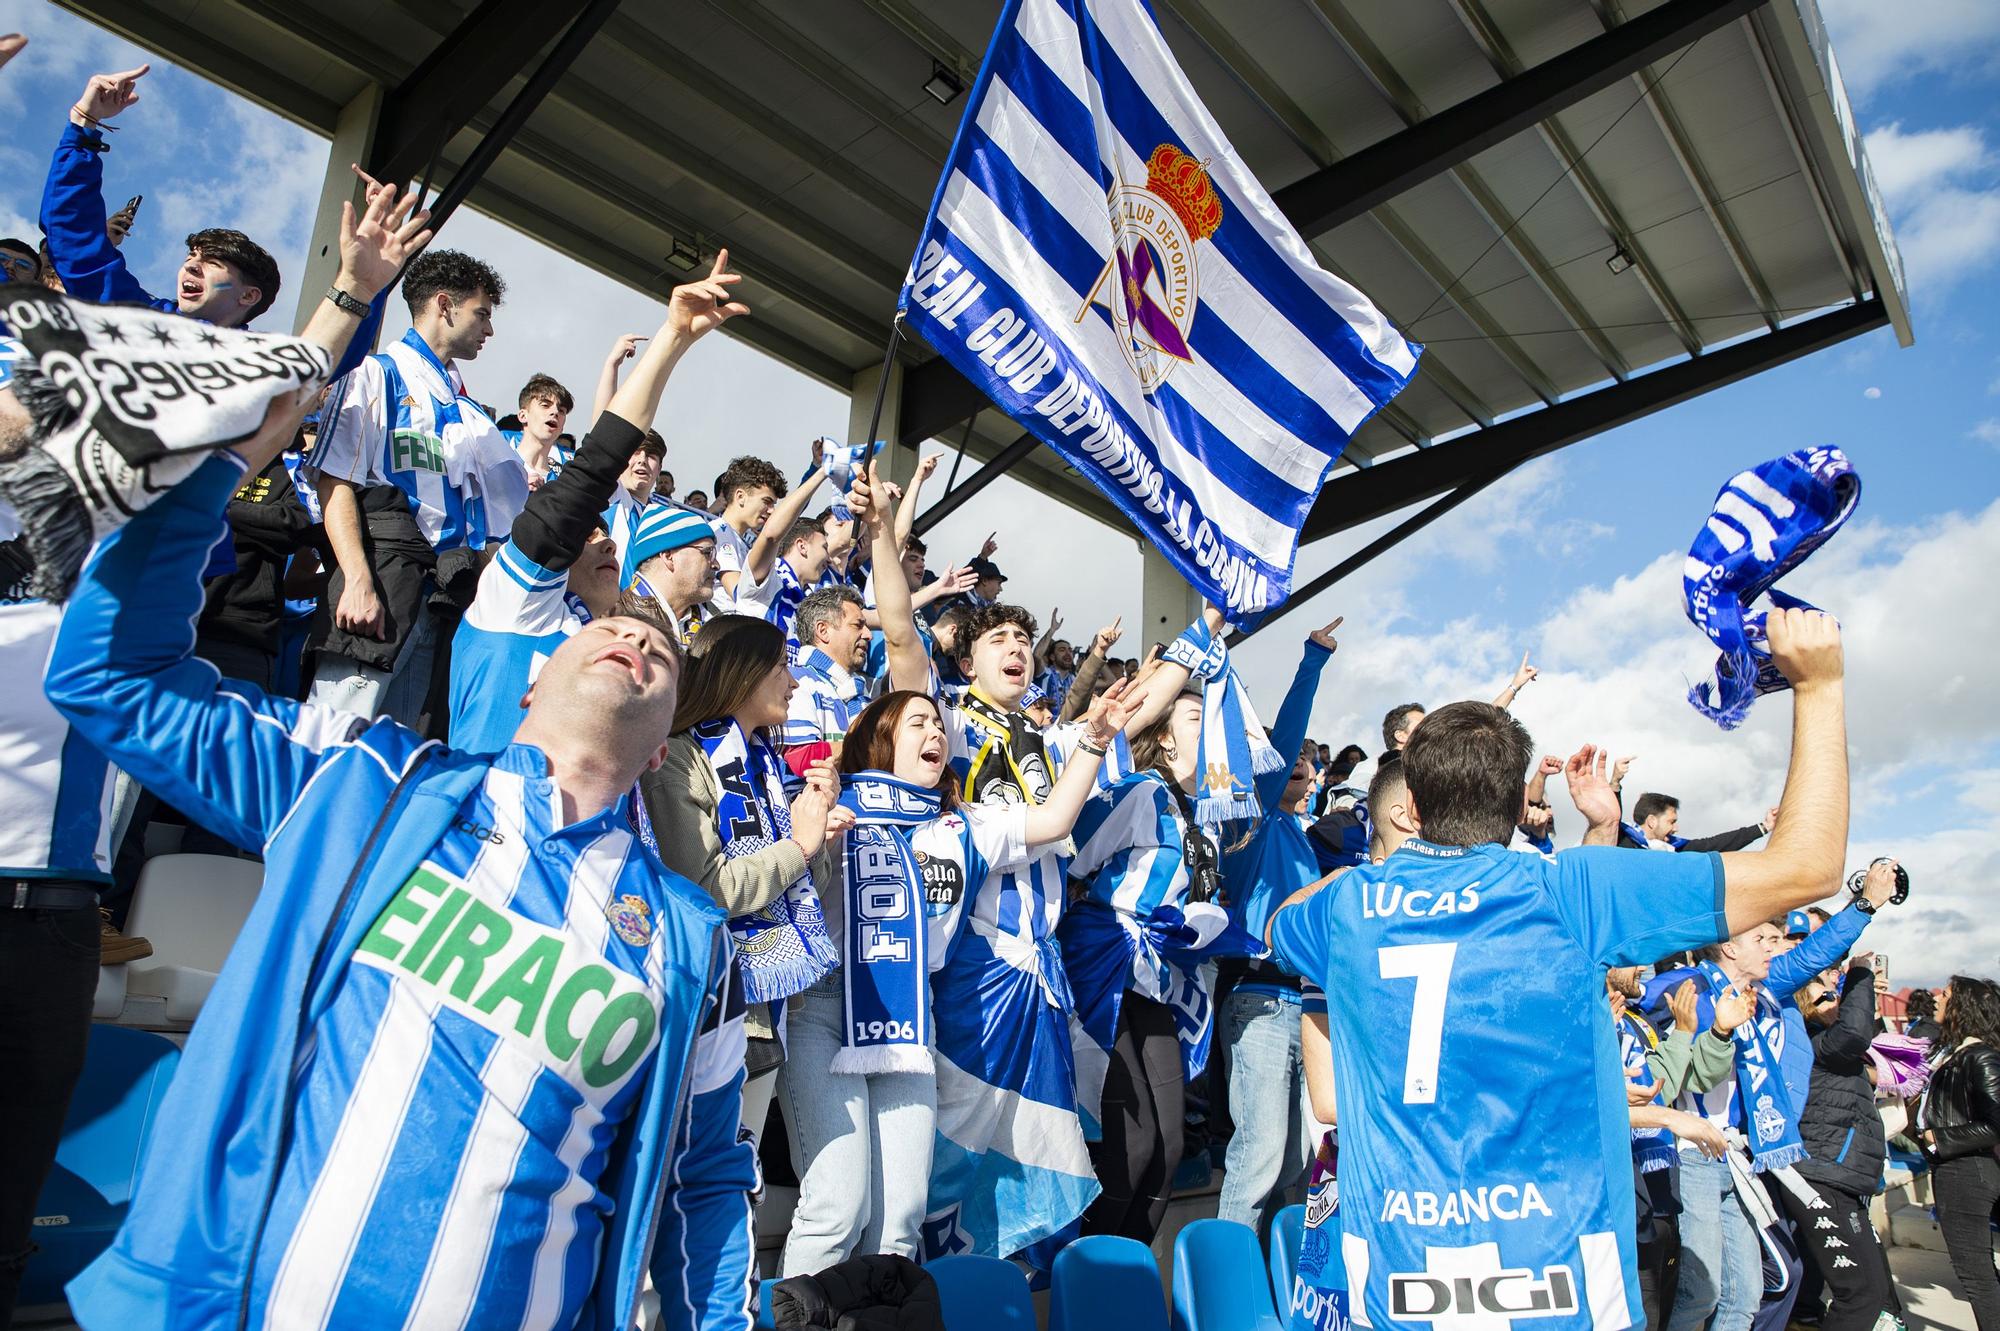
[[[746,737],[730,717],[704,721],[690,733],[722,789],[716,805],[722,855],[742,859],[792,835],[792,811],[770,743],[762,735]],[[840,965],[810,869],[764,909],[730,917],[730,937],[736,939],[744,997],[752,1003],[792,997]]]

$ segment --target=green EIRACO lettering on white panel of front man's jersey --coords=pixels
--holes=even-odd
[[[480,901],[434,863],[382,907],[354,963],[424,985],[598,1105],[660,1031],[660,995],[640,979],[558,929]]]

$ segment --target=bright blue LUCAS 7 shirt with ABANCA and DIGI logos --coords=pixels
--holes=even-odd
[[[1272,951],[1326,989],[1356,1325],[1644,1325],[1624,1075],[1594,995],[1606,965],[1726,935],[1718,855],[1616,847],[1406,841],[1278,911]]]

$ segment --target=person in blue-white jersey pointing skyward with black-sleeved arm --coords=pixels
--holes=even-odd
[[[728,250],[716,256],[710,282],[724,276]],[[702,310],[706,308],[706,310]],[[620,488],[620,474],[642,458],[644,438],[674,366],[730,306],[714,310],[702,284],[668,298],[666,322],[626,382],[612,394],[582,446],[536,490],[514,534],[480,574],[480,590],[452,640],[452,747],[498,753],[520,725],[520,703],[550,654],[618,602],[618,548],[598,514]],[[696,314],[712,322],[700,328]],[[658,436],[652,436],[658,438]],[[668,510],[680,512],[680,510]],[[698,522],[688,514],[690,522]],[[706,524],[698,526],[706,536]]]

